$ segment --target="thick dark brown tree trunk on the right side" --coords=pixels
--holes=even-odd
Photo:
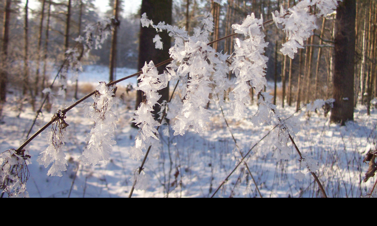
[[[334,47],[334,108],[331,122],[353,121],[356,0],[339,2]]]

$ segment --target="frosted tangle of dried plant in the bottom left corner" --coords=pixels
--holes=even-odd
[[[0,193],[6,192],[9,197],[29,197],[26,191],[26,180],[29,171],[23,156],[14,149],[0,154]]]

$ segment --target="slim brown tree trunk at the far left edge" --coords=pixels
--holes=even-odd
[[[4,12],[4,27],[3,27],[3,45],[1,52],[1,68],[0,68],[0,103],[6,102],[6,83],[8,82],[8,72],[6,71],[6,62],[8,56],[9,43],[9,20],[11,19],[11,0],[6,0]]]

